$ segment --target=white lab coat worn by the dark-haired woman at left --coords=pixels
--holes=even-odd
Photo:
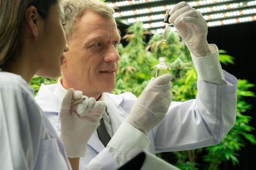
[[[27,83],[1,70],[0,169],[71,169],[62,142]]]

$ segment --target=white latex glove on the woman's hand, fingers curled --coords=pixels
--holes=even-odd
[[[105,102],[96,102],[94,98],[88,97],[78,105],[71,106],[71,101],[81,97],[81,91],[74,92],[74,89],[70,88],[63,98],[59,112],[60,139],[68,157],[85,156],[87,142],[106,110]]]

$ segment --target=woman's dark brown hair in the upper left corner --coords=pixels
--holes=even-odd
[[[0,68],[21,50],[21,30],[26,9],[33,5],[43,19],[59,0],[0,0]]]

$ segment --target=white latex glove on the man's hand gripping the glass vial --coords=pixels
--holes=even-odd
[[[169,109],[173,99],[170,91],[171,80],[170,74],[152,78],[133,105],[125,122],[147,135],[165,117]]]

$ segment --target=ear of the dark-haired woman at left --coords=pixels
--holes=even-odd
[[[39,24],[42,18],[39,16],[38,10],[35,6],[29,6],[25,13],[25,22],[27,29],[31,31],[35,37],[39,35]]]

